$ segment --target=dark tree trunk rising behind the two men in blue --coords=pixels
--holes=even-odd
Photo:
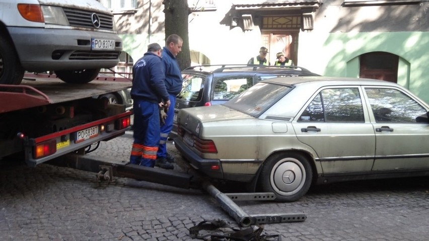
[[[191,56],[189,51],[187,0],[164,0],[165,39],[171,34],[177,34],[183,39],[182,52],[177,55],[177,62],[181,69],[189,67]]]

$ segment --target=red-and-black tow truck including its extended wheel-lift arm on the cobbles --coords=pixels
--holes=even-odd
[[[21,85],[0,85],[0,162],[24,159],[96,173],[99,182],[126,177],[184,189],[205,189],[241,226],[300,222],[304,213],[249,215],[234,201],[274,200],[274,193],[222,193],[185,162],[183,172],[133,165],[124,160],[86,155],[93,143],[108,141],[131,129],[132,111],[111,104],[108,93],[125,90],[131,82],[94,80],[69,84],[50,75],[26,75]],[[101,78],[100,78],[101,79]]]

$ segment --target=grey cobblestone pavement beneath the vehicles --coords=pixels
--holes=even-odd
[[[128,133],[89,155],[127,160],[131,142]],[[168,149],[180,158],[171,141]],[[407,178],[318,186],[294,203],[237,204],[248,214],[304,212],[304,222],[264,225],[282,240],[428,240],[428,200],[429,178]],[[203,219],[238,226],[202,190],[127,178],[100,185],[94,173],[46,164],[0,169],[0,240],[192,240],[188,228]]]

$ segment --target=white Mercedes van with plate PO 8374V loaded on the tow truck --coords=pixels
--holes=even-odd
[[[0,0],[0,84],[24,71],[88,83],[119,61],[113,14],[96,0]]]

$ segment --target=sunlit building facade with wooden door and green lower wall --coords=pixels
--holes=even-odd
[[[164,44],[162,0],[100,0],[124,50]],[[112,4],[116,3],[116,6]],[[110,4],[110,6],[109,6]],[[193,64],[247,63],[265,46],[326,76],[396,82],[429,102],[429,0],[189,0]]]

